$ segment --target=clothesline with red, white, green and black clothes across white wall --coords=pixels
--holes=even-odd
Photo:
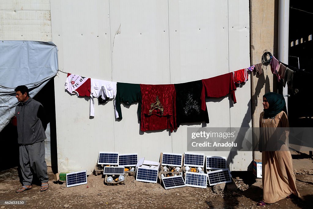
[[[205,97],[229,94],[235,104],[235,83],[246,82],[248,70],[253,71],[254,66],[198,81],[162,85],[103,81],[67,73],[65,90],[90,97],[90,116],[95,116],[94,98],[99,103],[113,99],[118,119],[122,119],[121,102],[126,105],[137,102],[141,131],[170,129],[172,132],[180,123],[209,123]]]

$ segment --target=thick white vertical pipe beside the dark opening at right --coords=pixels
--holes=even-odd
[[[279,0],[278,18],[278,60],[288,64],[289,51],[289,0]],[[288,87],[283,87],[283,95],[288,94]],[[288,97],[284,97],[288,112]]]

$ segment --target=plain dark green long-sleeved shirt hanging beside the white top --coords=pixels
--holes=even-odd
[[[137,115],[139,120],[141,118],[141,90],[140,84],[133,83],[119,83],[116,85],[116,111],[118,112],[119,118],[122,119],[121,102],[126,105],[131,105],[132,103],[138,102]]]

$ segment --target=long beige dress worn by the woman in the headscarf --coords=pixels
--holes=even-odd
[[[276,115],[274,119],[263,119],[264,112],[260,115],[260,127],[262,129],[263,145],[272,146],[270,138],[277,127],[289,127],[288,117],[284,111]],[[263,181],[263,200],[271,204],[284,199],[290,194],[300,197],[295,185],[295,174],[291,154],[288,148],[289,131],[282,133],[282,141],[285,142],[280,150],[288,151],[263,151],[262,152],[262,181]],[[277,143],[277,141],[276,141]],[[273,143],[275,144],[275,143]]]

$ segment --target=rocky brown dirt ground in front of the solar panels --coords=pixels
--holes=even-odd
[[[296,185],[304,200],[287,199],[256,206],[262,198],[262,179],[251,172],[232,172],[233,183],[207,189],[182,187],[165,190],[160,184],[144,183],[127,176],[125,185],[104,185],[102,175],[90,175],[88,184],[66,188],[54,182],[49,168],[49,190],[15,193],[21,185],[17,168],[0,172],[0,200],[24,200],[26,205],[0,205],[0,208],[312,208],[313,160],[292,152]],[[224,190],[223,187],[225,186]],[[219,190],[218,190],[219,189]]]

